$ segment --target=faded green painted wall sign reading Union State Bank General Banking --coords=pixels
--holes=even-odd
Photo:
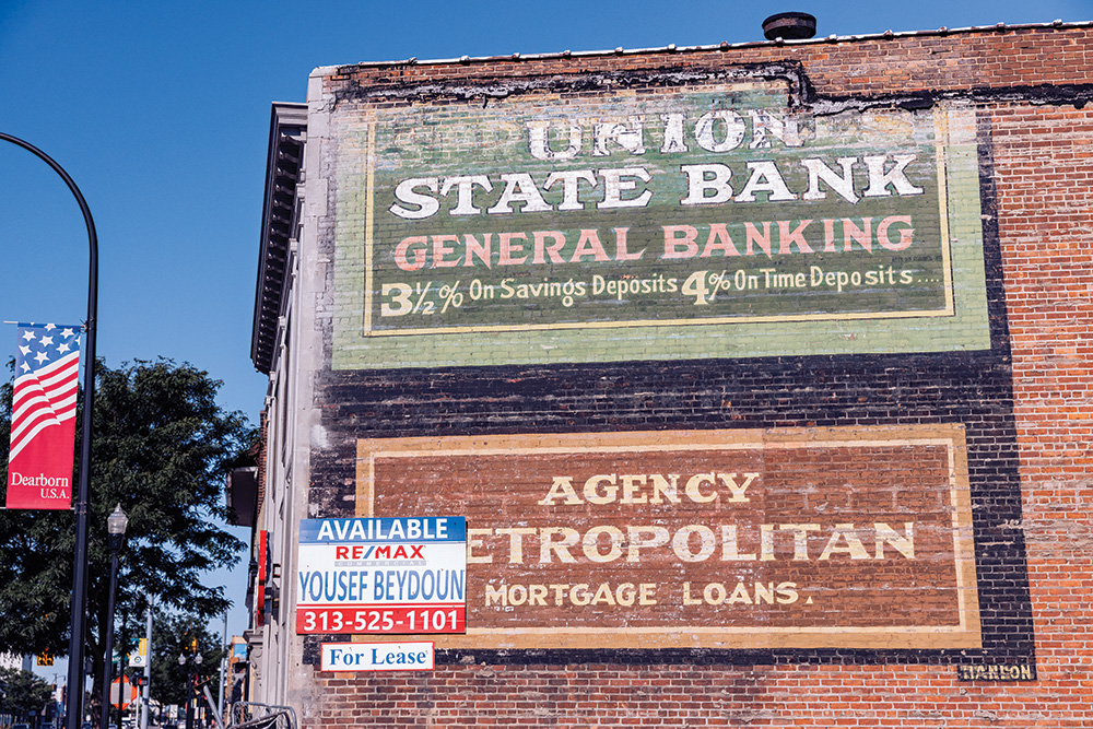
[[[967,115],[717,82],[344,105],[334,366],[989,346]]]

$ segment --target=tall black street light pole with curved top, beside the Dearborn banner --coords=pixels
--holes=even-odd
[[[38,148],[17,137],[0,132],[0,140],[11,142],[34,154],[61,176],[87,226],[91,258],[87,272],[87,319],[84,331],[87,343],[83,364],[83,419],[80,432],[80,481],[75,498],[75,554],[72,569],[72,625],[69,635],[68,698],[64,705],[64,729],[79,729],[83,721],[83,634],[87,619],[87,503],[91,497],[91,423],[95,400],[95,325],[98,316],[98,236],[91,209],[75,183],[63,167]]]

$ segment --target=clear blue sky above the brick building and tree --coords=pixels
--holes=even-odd
[[[223,380],[222,404],[257,422],[266,379],[249,352],[270,103],[304,101],[313,68],[762,40],[763,19],[788,10],[814,14],[821,36],[1093,20],[1093,0],[0,0],[0,131],[51,155],[87,199],[99,356],[190,362]],[[0,320],[84,319],[79,208],[60,178],[7,143],[0,252]],[[14,338],[0,328],[3,361]],[[245,575],[210,581],[231,583],[242,604]],[[237,608],[230,630],[245,623]]]

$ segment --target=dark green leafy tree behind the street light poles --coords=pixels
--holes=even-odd
[[[109,588],[106,517],[116,504],[129,516],[118,579],[119,650],[143,635],[149,600],[205,619],[228,607],[223,589],[201,578],[239,558],[242,542],[220,526],[224,465],[255,432],[240,413],[216,404],[220,385],[189,364],[162,358],[96,367],[85,636],[96,693]],[[8,384],[0,391],[0,438],[8,438],[10,419]],[[0,651],[67,655],[74,532],[72,512],[0,510]]]

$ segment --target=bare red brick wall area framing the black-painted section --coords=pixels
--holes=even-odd
[[[812,660],[717,654],[713,660],[718,662],[708,665],[701,655],[681,661],[604,654],[595,662],[560,662],[549,655],[471,654],[459,663],[413,674],[344,678],[316,671],[304,725],[1093,725],[1088,708],[1093,693],[1093,114],[1080,108],[1083,103],[1057,102],[1067,94],[1093,99],[1093,89],[1082,87],[1093,84],[1091,35],[1089,28],[992,31],[579,61],[361,67],[328,79],[334,85],[349,78],[398,84],[794,60],[820,98],[921,91],[966,97],[989,125],[991,140],[1021,490],[1020,520],[1000,530],[1024,537],[1037,680],[959,681],[959,657],[943,652],[908,652],[883,663],[853,651]],[[1004,333],[1006,321],[996,324]]]

